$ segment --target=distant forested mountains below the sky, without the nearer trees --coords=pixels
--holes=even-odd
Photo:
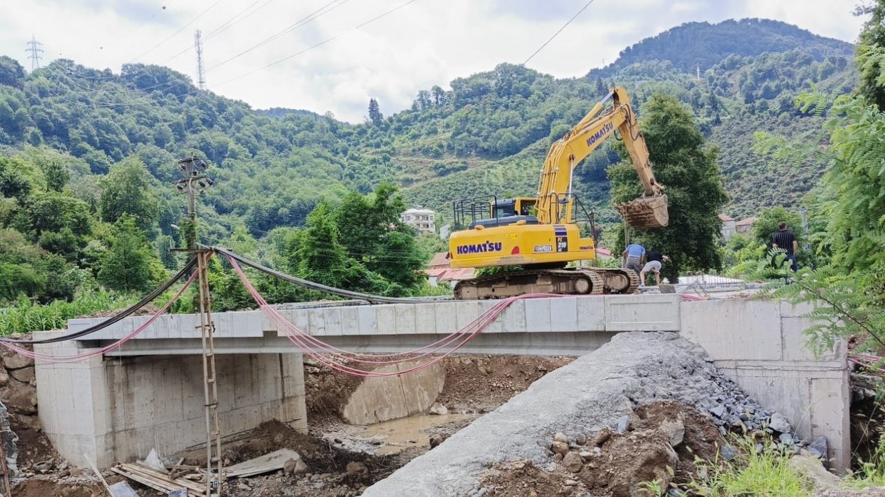
[[[450,81],[450,90],[421,90],[412,109],[359,125],[311,111],[255,111],[156,65],[112,73],[56,60],[26,73],[0,57],[0,147],[7,156],[26,147],[64,153],[73,174],[65,195],[93,213],[111,165],[140,157],[162,201],[155,233],[173,237],[169,225],[183,209],[182,195],[169,186],[178,178],[175,160],[206,157],[216,186],[204,195],[201,216],[210,241],[223,241],[236,226],[258,237],[302,226],[321,198],[366,193],[384,180],[443,216],[463,196],[533,195],[550,142],[617,84],[630,92],[640,117],[655,92],[691,106],[720,148],[729,213],[745,216],[795,203],[820,174],[822,164],[779,170],[750,151],[753,134],[816,140],[820,116],[797,111],[793,102],[811,85],[851,88],[851,57],[849,43],[777,21],[689,23],[636,43],[586,77],[498,65]],[[605,168],[618,158],[610,145],[581,164],[575,184],[585,203],[613,220]]]

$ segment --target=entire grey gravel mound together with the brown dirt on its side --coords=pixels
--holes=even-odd
[[[683,417],[666,409],[658,415],[649,406],[660,401],[691,408]],[[364,497],[531,495],[527,488],[499,492],[507,486],[497,485],[495,478],[510,477],[498,467],[513,461],[524,462],[522,471],[560,468],[572,475],[568,480],[575,483],[568,490],[563,483],[562,495],[581,495],[583,488],[594,495],[615,494],[612,487],[626,488],[618,494],[629,495],[637,482],[664,478],[674,453],[677,476],[693,470],[689,464],[695,455],[714,457],[722,433],[733,428],[767,429],[782,443],[789,437],[795,445],[783,421],[743,394],[689,341],[673,333],[620,333],[538,379],[523,394],[371,486]],[[781,434],[786,435],[781,439]],[[604,490],[594,492],[602,482]]]

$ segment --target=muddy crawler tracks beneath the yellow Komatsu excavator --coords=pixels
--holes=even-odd
[[[504,299],[523,294],[632,294],[637,287],[639,275],[629,269],[538,269],[465,279],[455,285],[455,299]]]

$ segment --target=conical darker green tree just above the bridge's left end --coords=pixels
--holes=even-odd
[[[141,292],[149,290],[164,273],[135,217],[122,214],[114,223],[111,246],[98,261],[98,282],[113,290]]]

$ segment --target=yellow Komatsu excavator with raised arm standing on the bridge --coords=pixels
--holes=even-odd
[[[607,106],[611,101],[612,105]],[[634,293],[639,275],[629,269],[566,268],[573,261],[596,258],[596,242],[581,236],[577,223],[590,216],[572,192],[574,168],[603,141],[620,132],[645,192],[615,206],[636,229],[667,226],[667,197],[649,164],[649,150],[636,124],[624,88],[612,88],[584,119],[550,146],[536,197],[498,199],[494,195],[454,203],[455,225],[449,238],[450,265],[456,268],[521,266],[522,271],[466,279],[455,286],[461,300],[512,295]],[[579,211],[584,215],[580,218]]]

